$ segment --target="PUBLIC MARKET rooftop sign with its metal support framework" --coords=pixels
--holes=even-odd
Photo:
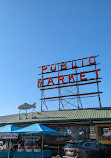
[[[97,57],[98,55],[39,67],[41,73],[38,75],[41,77],[37,86],[41,91],[41,111],[49,110],[48,101],[58,101],[58,110],[64,110],[65,106],[81,109],[84,107],[82,98],[96,96],[101,108],[102,92],[99,91],[99,83],[102,78],[99,77],[101,69],[97,68],[100,64]]]

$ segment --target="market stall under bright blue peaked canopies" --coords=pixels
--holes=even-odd
[[[58,134],[58,131],[38,123],[21,129],[14,125],[0,127],[0,139],[5,140],[5,145],[0,150],[0,157],[51,158],[51,150],[43,149],[43,138],[45,134]],[[18,136],[20,136],[21,140],[18,139]],[[17,139],[17,144],[14,144],[14,140]],[[17,145],[17,148],[15,148],[15,145]]]

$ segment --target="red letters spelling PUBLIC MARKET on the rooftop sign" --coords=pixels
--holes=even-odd
[[[59,64],[51,64],[48,66],[44,65],[44,66],[41,66],[41,73],[45,74],[45,73],[51,73],[51,72],[58,72],[58,71],[66,70],[66,69],[75,69],[75,68],[88,66],[88,65],[84,65],[84,59],[86,59],[86,58],[80,59],[81,65],[79,67],[76,65],[76,62],[74,60],[69,61],[70,67],[69,67],[69,64],[67,67],[66,62],[61,62]],[[89,62],[89,66],[96,64],[95,56],[90,56],[88,58],[88,62]],[[50,70],[49,70],[49,68],[50,68]],[[97,79],[98,79],[98,71],[100,71],[100,70],[101,69],[96,69],[96,70],[91,71],[92,73],[95,72]],[[64,84],[64,83],[76,82],[76,80],[77,80],[76,75],[78,75],[79,81],[87,81],[88,79],[87,79],[87,77],[85,77],[85,74],[87,74],[87,73],[88,73],[88,71],[79,72],[77,74],[72,73],[72,74],[68,74],[68,75],[59,75],[56,77],[49,77],[46,79],[42,78],[42,79],[38,79],[37,85],[38,85],[38,87],[43,87],[43,86],[51,86],[51,85],[55,85],[55,84],[59,85],[59,84]],[[57,79],[54,79],[54,78],[57,78]],[[67,79],[67,81],[66,81],[66,79]]]

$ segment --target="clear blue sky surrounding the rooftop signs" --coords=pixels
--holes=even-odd
[[[25,102],[40,111],[39,66],[92,55],[101,63],[102,106],[110,107],[110,0],[0,0],[0,115]]]

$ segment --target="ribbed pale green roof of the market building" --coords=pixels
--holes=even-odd
[[[109,120],[111,109],[81,109],[64,111],[44,111],[0,116],[0,124],[6,123],[54,123],[86,120]]]

